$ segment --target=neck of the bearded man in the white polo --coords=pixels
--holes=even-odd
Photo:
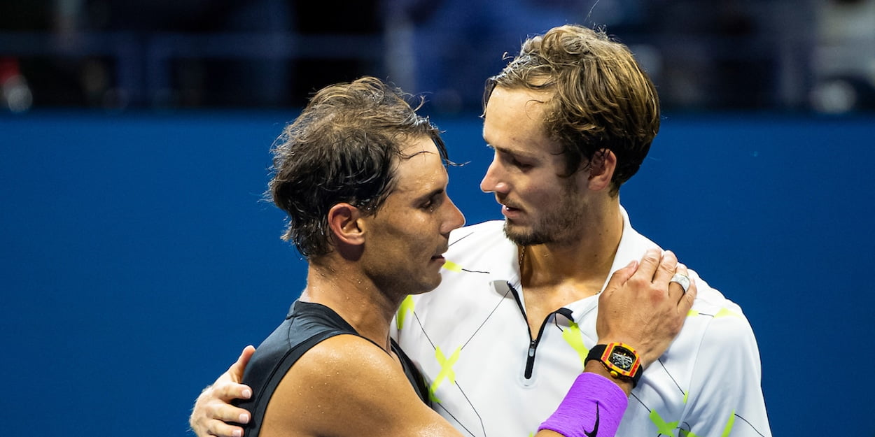
[[[577,235],[561,243],[520,248],[523,288],[555,287],[574,281],[598,283],[600,289],[611,273],[623,234],[619,200],[580,223],[583,225]]]

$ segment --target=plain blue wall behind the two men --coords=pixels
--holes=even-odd
[[[186,434],[200,389],[304,287],[259,202],[292,113],[0,118],[0,401],[12,435]],[[490,154],[436,120],[469,223]],[[875,120],[669,114],[621,192],[634,226],[739,302],[775,435],[875,435]]]

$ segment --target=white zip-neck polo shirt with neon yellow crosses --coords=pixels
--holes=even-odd
[[[611,274],[656,247],[622,214]],[[423,371],[432,407],[474,437],[535,434],[598,343],[598,295],[570,302],[529,335],[517,250],[503,225],[490,221],[452,232],[440,287],[409,296],[393,327]],[[750,324],[738,305],[695,272],[690,278],[698,288],[690,316],[644,372],[617,435],[771,436]]]

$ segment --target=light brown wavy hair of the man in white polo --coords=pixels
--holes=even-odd
[[[611,150],[617,156],[613,195],[641,167],[659,131],[653,82],[628,47],[604,31],[563,25],[528,38],[501,73],[486,80],[484,109],[495,87],[551,92],[543,127],[562,143],[563,176]]]

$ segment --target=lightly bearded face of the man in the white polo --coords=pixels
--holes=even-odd
[[[585,229],[586,177],[564,174],[559,143],[542,128],[550,94],[496,87],[486,104],[483,138],[495,150],[480,189],[495,193],[507,238],[521,246],[563,243]]]

